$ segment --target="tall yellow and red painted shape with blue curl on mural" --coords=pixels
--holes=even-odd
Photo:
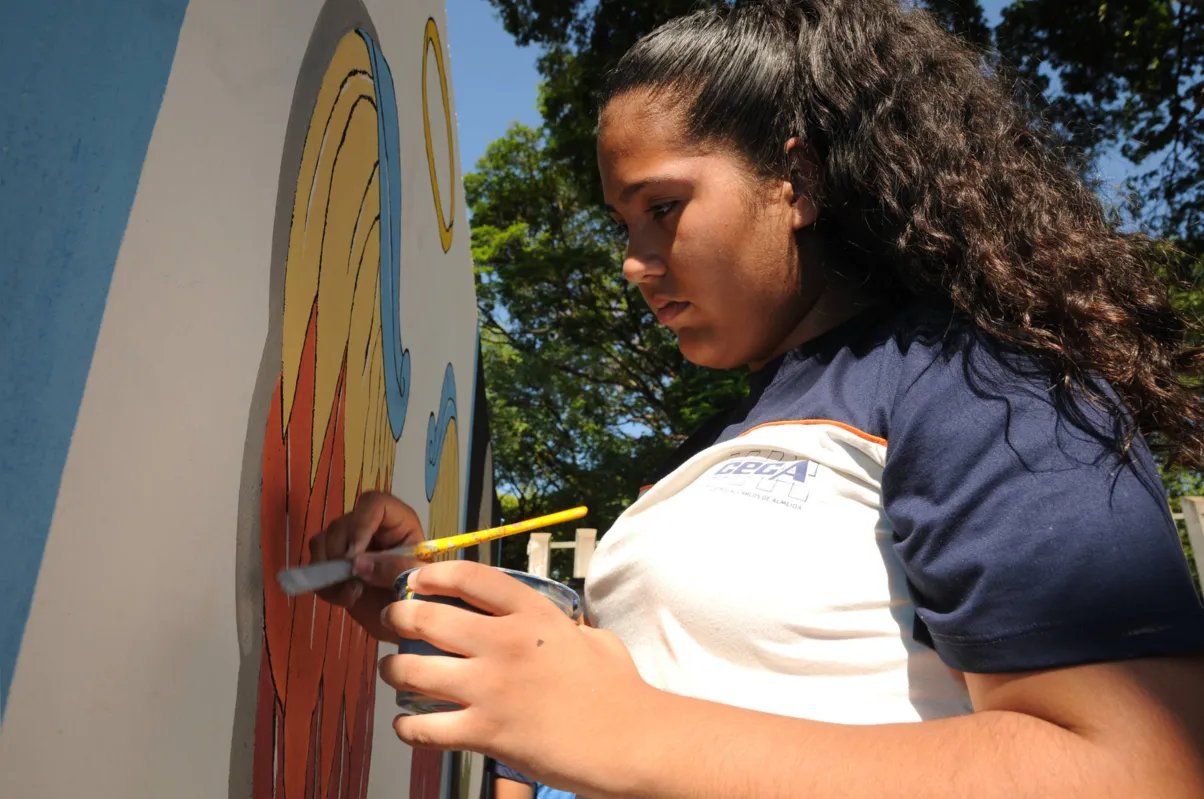
[[[275,575],[365,490],[389,490],[406,420],[397,336],[400,182],[393,76],[364,30],[338,41],[308,120],[284,272],[283,354],[264,439],[264,655],[254,799],[360,799],[377,641]]]

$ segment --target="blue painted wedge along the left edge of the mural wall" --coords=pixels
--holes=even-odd
[[[187,7],[188,0],[5,4],[0,718],[110,279]]]

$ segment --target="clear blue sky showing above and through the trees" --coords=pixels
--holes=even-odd
[[[992,28],[1009,2],[982,0]],[[485,154],[485,147],[501,137],[512,122],[539,125],[536,107],[538,52],[514,43],[488,0],[447,0],[447,10],[452,79],[460,122],[460,159],[464,170],[470,172]],[[1115,185],[1132,171],[1132,165],[1120,156],[1105,155],[1099,171],[1106,184]]]

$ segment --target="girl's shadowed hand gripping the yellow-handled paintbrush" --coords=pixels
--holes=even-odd
[[[347,608],[368,634],[378,640],[396,640],[380,623],[380,611],[397,599],[394,581],[421,561],[384,555],[380,550],[423,541],[423,522],[414,509],[379,491],[360,495],[352,511],[309,539],[309,562],[355,558],[355,578],[318,592],[326,602]]]

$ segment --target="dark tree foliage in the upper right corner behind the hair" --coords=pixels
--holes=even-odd
[[[1076,149],[1119,147],[1132,211],[1193,255],[1204,243],[1204,6],[1019,0],[997,31],[1007,61]]]

